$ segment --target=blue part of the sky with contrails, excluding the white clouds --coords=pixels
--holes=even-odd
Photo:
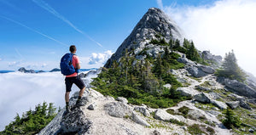
[[[99,66],[87,65],[92,53],[102,58],[108,50],[114,53],[151,7],[159,7],[157,1],[0,0],[0,70],[50,70],[71,44],[77,45],[83,68]]]

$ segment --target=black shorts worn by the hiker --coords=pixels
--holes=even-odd
[[[65,79],[66,92],[71,92],[71,87],[73,83],[80,89],[83,89],[85,87],[84,82],[80,79],[79,76],[66,77]]]

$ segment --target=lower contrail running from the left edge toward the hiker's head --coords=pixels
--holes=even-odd
[[[5,16],[3,16],[3,15],[0,15],[0,17],[2,17],[2,18],[5,19],[5,20],[12,21],[12,22],[14,22],[14,23],[17,24],[17,25],[21,25],[21,26],[25,27],[26,29],[28,29],[28,30],[30,30],[30,31],[34,31],[34,32],[36,32],[36,33],[38,33],[38,34],[40,34],[40,35],[42,35],[42,36],[44,36],[44,37],[47,37],[47,38],[49,38],[50,40],[53,40],[53,41],[55,41],[55,42],[58,42],[58,43],[60,43],[60,44],[62,44],[62,45],[64,45],[64,46],[66,46],[66,47],[69,47],[67,44],[65,44],[65,43],[63,43],[63,42],[60,42],[60,41],[56,40],[56,39],[53,38],[53,37],[49,37],[49,36],[45,35],[44,33],[41,33],[40,31],[34,30],[34,29],[32,29],[31,27],[28,27],[28,26],[26,26],[26,25],[23,25],[23,24],[21,24],[20,22],[18,22],[18,21],[16,21],[16,20],[9,19],[8,17],[5,17]]]

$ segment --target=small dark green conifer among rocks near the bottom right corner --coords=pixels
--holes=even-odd
[[[234,128],[234,127],[240,127],[241,121],[239,120],[238,117],[234,115],[234,112],[228,108],[224,112],[225,119],[223,122],[224,126],[227,128]]]

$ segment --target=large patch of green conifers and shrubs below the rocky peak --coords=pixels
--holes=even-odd
[[[125,97],[131,104],[147,104],[152,108],[170,107],[186,99],[176,91],[182,84],[169,72],[170,69],[183,68],[184,65],[177,62],[177,57],[177,53],[166,51],[157,59],[148,56],[143,63],[136,61],[126,50],[119,63],[113,61],[111,68],[103,68],[91,84],[100,93],[114,98]],[[136,64],[132,65],[135,61]],[[171,84],[172,88],[163,87],[166,83]]]

